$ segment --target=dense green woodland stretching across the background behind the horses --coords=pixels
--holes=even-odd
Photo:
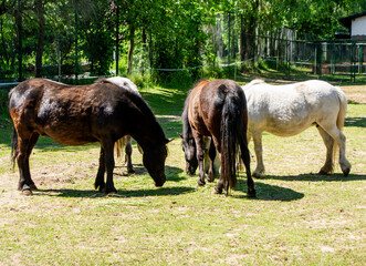
[[[144,69],[196,79],[222,57],[253,58],[258,35],[332,40],[339,18],[365,10],[365,0],[0,0],[0,80]]]

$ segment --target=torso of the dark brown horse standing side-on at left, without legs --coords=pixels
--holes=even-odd
[[[15,129],[48,135],[61,144],[82,145],[102,135],[117,139],[125,134],[127,126],[123,125],[130,116],[122,113],[136,105],[133,101],[142,101],[130,94],[112,83],[71,86],[32,79],[10,92],[9,112]]]

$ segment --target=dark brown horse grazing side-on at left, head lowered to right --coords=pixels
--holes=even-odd
[[[100,142],[100,166],[95,188],[114,193],[114,143],[132,135],[144,151],[143,162],[156,186],[166,181],[166,139],[147,103],[121,85],[101,79],[91,85],[66,85],[33,79],[9,93],[9,112],[14,124],[13,162],[19,166],[19,190],[31,194],[29,157],[40,135],[60,144]],[[107,174],[106,183],[104,174]]]

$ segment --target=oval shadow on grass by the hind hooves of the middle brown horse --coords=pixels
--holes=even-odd
[[[238,198],[251,198],[255,201],[279,201],[279,202],[292,202],[299,201],[304,197],[303,193],[295,192],[291,188],[281,187],[276,185],[269,185],[255,181],[257,197],[248,197],[245,195],[236,195]],[[238,191],[248,191],[247,180],[242,180],[238,184]]]

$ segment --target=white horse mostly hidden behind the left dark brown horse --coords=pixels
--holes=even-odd
[[[117,86],[123,88],[124,90],[127,89],[129,92],[137,94],[138,96],[142,96],[137,90],[137,86],[135,85],[134,82],[132,82],[127,78],[122,78],[122,76],[113,76],[109,79],[106,79],[108,82],[116,84]],[[137,145],[138,151],[140,153],[142,149],[139,145]],[[132,162],[132,153],[133,153],[133,146],[132,146],[132,137],[130,135],[125,135],[115,143],[115,150],[117,152],[117,157],[123,156],[123,150],[125,150],[125,163],[127,164],[127,172],[128,174],[135,173],[134,167],[133,167],[133,162]]]

